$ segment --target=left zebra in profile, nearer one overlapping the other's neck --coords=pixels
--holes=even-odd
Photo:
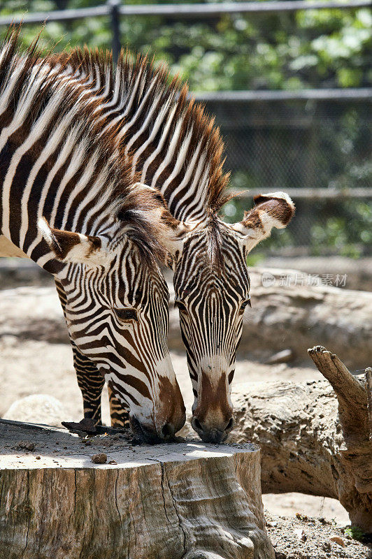
[[[18,43],[10,29],[0,49],[1,255],[55,275],[100,389],[104,378],[138,437],[164,440],[185,422],[155,260],[168,258],[164,201],[137,182],[98,106],[41,61],[37,41],[24,55]]]

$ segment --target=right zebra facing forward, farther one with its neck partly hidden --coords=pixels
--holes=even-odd
[[[294,204],[285,193],[264,194],[241,222],[220,219],[229,199],[220,132],[166,68],[122,52],[114,71],[108,55],[87,49],[54,55],[50,64],[64,68],[61,79],[84,82],[90,102],[98,103],[107,128],[115,127],[131,155],[132,176],[138,173],[164,196],[173,228],[167,248],[175,304],[194,392],[192,427],[202,440],[221,442],[234,426],[231,382],[250,305],[246,256],[273,227],[287,226]],[[87,360],[76,363],[78,376],[86,367],[94,377]],[[112,412],[117,421],[119,407]]]

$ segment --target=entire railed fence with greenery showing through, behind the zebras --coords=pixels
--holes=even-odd
[[[29,44],[47,20],[41,41],[61,38],[57,50],[86,42],[112,46],[115,58],[127,45],[166,60],[206,90],[196,99],[220,125],[231,187],[245,191],[225,219],[241,219],[259,191],[294,198],[295,219],[258,257],[371,255],[369,0],[92,3],[22,15],[46,5],[8,0],[0,32],[23,20]]]

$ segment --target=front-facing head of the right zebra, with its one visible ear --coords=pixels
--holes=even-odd
[[[243,221],[173,221],[175,305],[187,349],[194,405],[192,427],[205,442],[222,442],[234,426],[230,393],[243,313],[250,305],[246,256],[273,227],[287,226],[294,204],[287,194],[257,196]]]

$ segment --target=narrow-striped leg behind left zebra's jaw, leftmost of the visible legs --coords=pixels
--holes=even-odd
[[[55,286],[57,287],[59,300],[66,318],[66,293],[64,293],[64,288],[57,279],[55,279]],[[92,419],[94,425],[101,425],[101,393],[105,380],[96,368],[96,365],[80,353],[71,338],[70,341],[73,351],[73,366],[75,367],[78,385],[83,395],[84,417],[85,419]]]

